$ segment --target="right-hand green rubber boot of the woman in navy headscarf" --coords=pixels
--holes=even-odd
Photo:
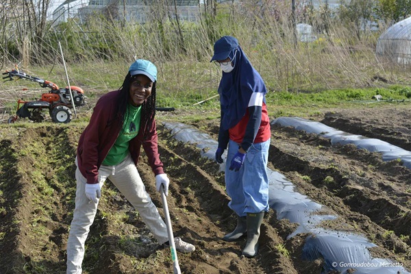
[[[259,213],[247,213],[247,243],[242,250],[242,255],[253,258],[258,253],[258,238],[260,237],[260,226],[264,218],[264,211]]]

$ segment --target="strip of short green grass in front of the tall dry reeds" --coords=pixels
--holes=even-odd
[[[92,102],[90,105],[78,109],[79,112],[92,112],[92,107],[98,97],[110,90],[119,88],[123,82],[123,77],[127,73],[127,63],[106,63],[97,62],[93,64],[93,70],[90,71],[91,64],[71,64],[69,73],[71,75],[71,84],[80,86],[84,89],[88,99]],[[158,64],[160,67],[158,79],[157,105],[158,107],[173,107],[179,112],[179,119],[184,121],[196,121],[203,119],[215,119],[219,117],[219,97],[217,88],[221,75],[214,64],[201,62],[171,62]],[[108,71],[111,68],[112,73]],[[54,82],[65,83],[62,68],[54,66],[42,66],[32,68],[36,75],[49,75],[47,79],[53,79]],[[50,71],[52,73],[50,73]],[[264,82],[270,83],[273,77],[266,76]],[[6,82],[0,84],[0,90],[10,90],[16,88],[25,88],[31,82],[19,80],[18,82]],[[62,85],[64,86],[64,85]],[[332,108],[378,108],[382,105],[396,104],[409,105],[411,97],[411,88],[406,84],[393,84],[378,87],[367,88],[332,88],[316,90],[278,90],[274,91],[272,86],[267,84],[270,90],[266,95],[267,108],[271,118],[278,116],[301,116],[303,118],[312,118],[321,115],[323,110],[332,110]],[[48,92],[46,89],[38,90]],[[1,92],[3,97],[12,96],[9,92]],[[382,101],[373,99],[374,95],[382,95]],[[16,99],[16,97],[14,97]],[[26,99],[26,98],[25,98]],[[199,103],[203,101],[203,103]],[[401,102],[400,102],[401,101]],[[1,103],[1,101],[0,101]],[[3,112],[6,121],[8,117],[14,114],[16,105],[8,101],[4,105]],[[88,116],[77,115],[72,123],[86,125]],[[1,125],[0,125],[1,126]],[[32,123],[19,123],[19,127],[34,127]],[[2,134],[3,135],[3,134]]]

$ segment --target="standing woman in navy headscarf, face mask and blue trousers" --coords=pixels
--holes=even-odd
[[[237,216],[233,232],[223,240],[232,242],[247,234],[242,255],[258,253],[258,238],[264,212],[269,210],[269,179],[266,165],[271,129],[266,109],[266,86],[242,51],[238,40],[224,36],[214,43],[210,62],[221,68],[219,85],[221,121],[215,158],[225,165],[225,185],[231,198],[228,206]]]

